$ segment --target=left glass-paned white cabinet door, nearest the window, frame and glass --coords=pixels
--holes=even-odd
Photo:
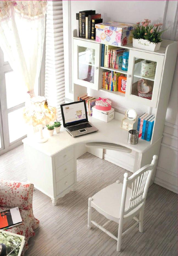
[[[74,83],[98,90],[100,44],[74,39]]]

